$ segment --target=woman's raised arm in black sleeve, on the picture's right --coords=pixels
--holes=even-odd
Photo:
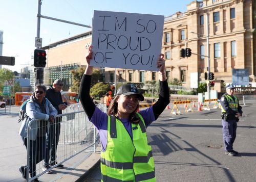
[[[153,105],[155,119],[158,118],[170,102],[169,88],[165,77],[165,60],[163,59],[163,56],[164,55],[161,54],[157,61],[157,67],[159,68],[159,98]]]

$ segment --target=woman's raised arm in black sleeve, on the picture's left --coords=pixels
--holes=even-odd
[[[82,80],[79,87],[79,99],[81,101],[82,107],[86,112],[87,116],[91,118],[93,116],[95,110],[95,104],[90,97],[90,88],[91,88],[91,79],[92,79],[92,72],[93,66],[90,66],[90,61],[92,59],[92,50],[91,46],[88,49],[88,54],[86,56],[87,67],[86,71],[82,76]]]

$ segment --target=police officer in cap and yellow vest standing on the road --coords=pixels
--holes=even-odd
[[[233,143],[237,134],[237,122],[242,116],[242,107],[239,105],[238,98],[233,95],[234,86],[227,85],[226,93],[221,97],[221,112],[222,112],[222,132],[225,154],[234,156],[238,152],[233,150]]]

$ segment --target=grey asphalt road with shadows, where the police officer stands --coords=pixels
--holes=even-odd
[[[157,181],[256,181],[256,101],[248,100],[238,123],[234,149],[224,153],[220,109],[170,115],[170,110],[147,128]],[[172,109],[172,106],[170,106]],[[84,181],[100,181],[97,166]]]

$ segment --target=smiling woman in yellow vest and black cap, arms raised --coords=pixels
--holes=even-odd
[[[81,80],[79,97],[84,111],[98,129],[101,141],[101,174],[103,181],[156,181],[151,146],[147,144],[146,127],[155,121],[169,103],[165,79],[165,61],[161,54],[159,68],[159,99],[137,112],[144,100],[134,84],[124,84],[117,90],[108,113],[100,111],[90,99],[93,67],[91,46],[86,60],[88,66]]]

